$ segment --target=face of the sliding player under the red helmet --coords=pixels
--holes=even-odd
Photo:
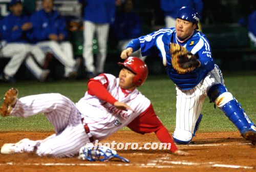
[[[134,90],[136,88],[133,83],[134,77],[135,74],[132,71],[122,68],[119,72],[119,86],[125,90]]]

